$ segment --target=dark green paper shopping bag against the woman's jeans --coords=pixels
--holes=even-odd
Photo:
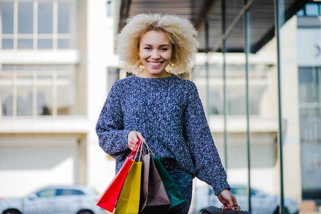
[[[171,205],[168,208],[168,211],[171,211],[172,209],[176,208],[178,205],[184,203],[185,198],[178,191],[176,185],[174,184],[173,180],[169,176],[168,172],[166,171],[165,167],[163,166],[162,162],[160,162],[158,157],[154,156],[153,160],[157,168],[157,171],[159,173],[159,176],[160,178],[162,178],[163,184],[167,192],[167,196],[171,202]]]

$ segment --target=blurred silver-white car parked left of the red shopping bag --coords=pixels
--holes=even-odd
[[[2,214],[103,214],[98,194],[85,185],[47,186],[20,199],[0,200]]]

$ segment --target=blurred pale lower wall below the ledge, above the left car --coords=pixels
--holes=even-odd
[[[72,137],[2,138],[0,198],[22,197],[45,185],[73,184],[77,159],[76,139]]]

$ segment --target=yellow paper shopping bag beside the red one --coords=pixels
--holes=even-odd
[[[137,214],[141,196],[142,162],[134,161],[125,179],[114,214]]]

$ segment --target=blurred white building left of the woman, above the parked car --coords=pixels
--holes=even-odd
[[[95,133],[118,78],[114,7],[0,1],[0,198],[56,183],[101,190],[114,175]]]

